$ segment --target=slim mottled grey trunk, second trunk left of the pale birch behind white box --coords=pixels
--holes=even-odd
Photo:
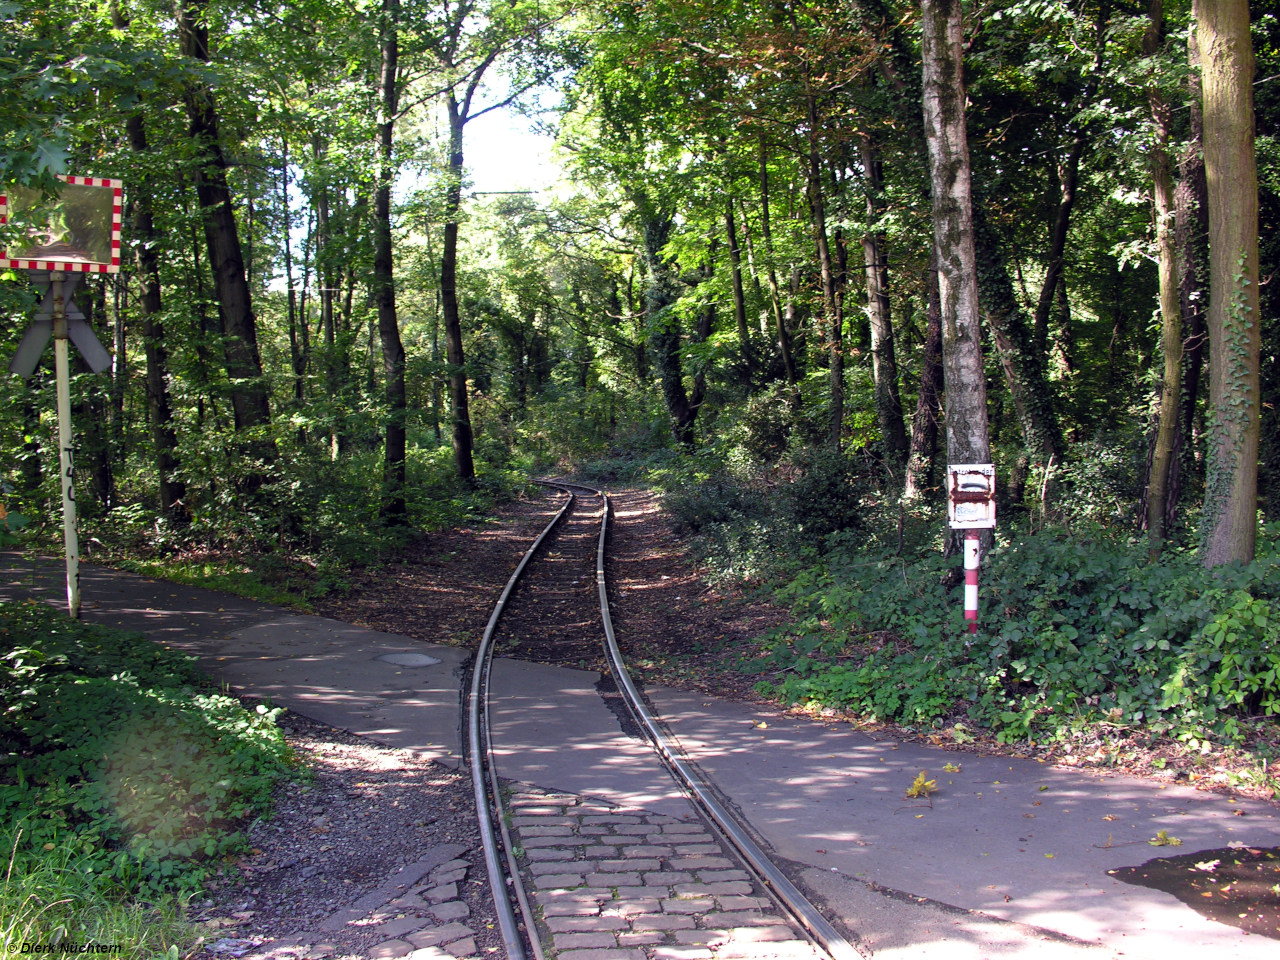
[[[867,219],[881,215],[879,197],[884,189],[879,152],[869,136],[860,138],[863,170],[867,174]],[[884,234],[863,236],[863,264],[867,271],[867,319],[872,332],[872,383],[876,389],[876,417],[884,444],[884,462],[895,484],[901,483],[906,465],[906,428],[902,425],[902,399],[897,389],[897,357],[893,352],[893,317],[888,301],[888,262]]]

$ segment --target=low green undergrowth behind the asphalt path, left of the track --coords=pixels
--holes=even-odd
[[[317,596],[342,590],[352,567],[383,563],[424,532],[483,520],[497,500],[529,484],[526,458],[493,444],[477,448],[479,477],[453,476],[448,447],[410,451],[407,516],[388,524],[379,516],[381,476],[378,451],[353,451],[333,462],[294,457],[252,494],[234,483],[193,489],[189,517],[174,524],[145,506],[146,492],[122,492],[120,506],[104,509],[82,498],[81,556],[145,576],[225,590],[241,596],[307,609]],[[288,479],[284,479],[288,477]],[[61,550],[61,507],[56,484],[45,484],[37,502],[10,498],[23,529],[9,544]]]

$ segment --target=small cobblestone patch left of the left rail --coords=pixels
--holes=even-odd
[[[434,849],[310,931],[252,950],[223,941],[224,948],[209,952],[243,960],[470,960],[477,954],[475,931],[458,886],[471,865],[457,859],[460,851]],[[371,946],[353,948],[352,940]]]

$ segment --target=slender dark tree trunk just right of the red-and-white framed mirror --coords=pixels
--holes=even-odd
[[[131,114],[124,122],[129,146],[140,156],[150,151],[141,114]],[[165,346],[160,289],[160,237],[156,234],[151,184],[142,179],[129,191],[132,225],[138,268],[138,312],[142,315],[142,349],[147,360],[147,420],[151,425],[151,445],[155,449],[156,476],[159,477],[160,516],[170,524],[184,524],[189,515],[184,499],[187,485],[180,477],[182,461],[178,456],[178,434],[174,430],[173,404],[169,401],[169,351]]]

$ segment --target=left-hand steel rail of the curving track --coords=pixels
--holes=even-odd
[[[470,767],[471,767],[471,787],[475,791],[476,801],[476,820],[480,826],[480,841],[484,846],[485,869],[489,873],[489,890],[493,892],[494,910],[498,914],[498,929],[502,933],[502,940],[507,947],[508,960],[526,960],[525,941],[520,933],[520,922],[516,919],[516,911],[511,905],[511,896],[507,891],[507,874],[503,870],[502,860],[498,852],[498,841],[494,837],[493,820],[494,813],[489,804],[489,794],[485,788],[485,756],[488,753],[484,749],[484,744],[488,741],[488,698],[484,695],[484,690],[488,686],[488,663],[490,660],[492,648],[493,648],[493,635],[498,628],[498,620],[502,617],[503,609],[507,607],[507,600],[511,596],[511,591],[516,589],[516,582],[520,576],[525,572],[525,567],[534,558],[538,548],[543,545],[547,538],[550,535],[564,515],[568,513],[570,507],[573,506],[575,495],[568,490],[563,490],[568,495],[564,506],[561,507],[559,512],[552,518],[552,521],[543,527],[543,531],[534,540],[532,545],[525,550],[525,556],[521,557],[520,563],[516,566],[515,572],[507,581],[507,585],[502,590],[502,595],[498,598],[497,605],[493,608],[493,613],[489,617],[489,623],[485,626],[484,636],[480,637],[480,646],[476,648],[475,662],[471,667],[471,694],[470,701],[467,704],[467,727],[468,727],[468,744],[470,744]],[[497,803],[500,803],[498,797],[497,778],[494,778],[494,797]],[[520,884],[520,876],[512,873],[511,883]],[[527,902],[521,897],[522,902]],[[531,918],[526,915],[526,927],[529,931],[530,942],[538,940],[538,932],[532,925]],[[541,952],[539,950],[539,956]]]

